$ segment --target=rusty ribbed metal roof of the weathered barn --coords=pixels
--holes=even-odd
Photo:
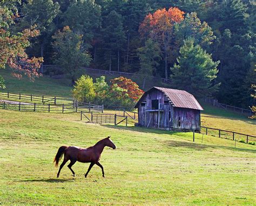
[[[166,97],[169,98],[169,100],[171,101],[171,104],[175,107],[204,110],[201,107],[201,105],[198,103],[196,98],[194,98],[194,96],[188,93],[187,91],[178,90],[178,89],[169,89],[169,88],[163,88],[163,87],[153,87],[153,88],[162,91],[166,95]],[[146,93],[148,91],[146,91]]]

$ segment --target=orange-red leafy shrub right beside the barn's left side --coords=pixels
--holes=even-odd
[[[128,96],[134,101],[137,102],[139,98],[144,94],[144,91],[139,89],[139,86],[136,82],[133,82],[131,79],[127,79],[123,76],[110,80],[113,84],[117,84],[118,87],[125,89]]]

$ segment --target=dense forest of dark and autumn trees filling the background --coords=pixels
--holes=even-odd
[[[1,0],[0,68],[79,78],[79,67],[170,79],[172,88],[253,105],[255,1]],[[42,67],[42,66],[41,66]],[[0,87],[4,80],[0,76]]]

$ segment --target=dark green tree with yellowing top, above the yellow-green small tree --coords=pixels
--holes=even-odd
[[[76,34],[65,26],[63,31],[58,31],[52,38],[55,51],[53,62],[70,75],[74,84],[79,68],[88,66],[91,61],[90,55],[84,49],[82,35]]]

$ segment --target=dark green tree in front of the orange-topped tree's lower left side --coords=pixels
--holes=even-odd
[[[148,39],[144,47],[138,48],[138,56],[140,63],[139,74],[142,74],[147,80],[156,73],[156,67],[159,65],[158,61],[161,59],[160,47],[157,42]],[[144,86],[143,86],[144,88]]]

